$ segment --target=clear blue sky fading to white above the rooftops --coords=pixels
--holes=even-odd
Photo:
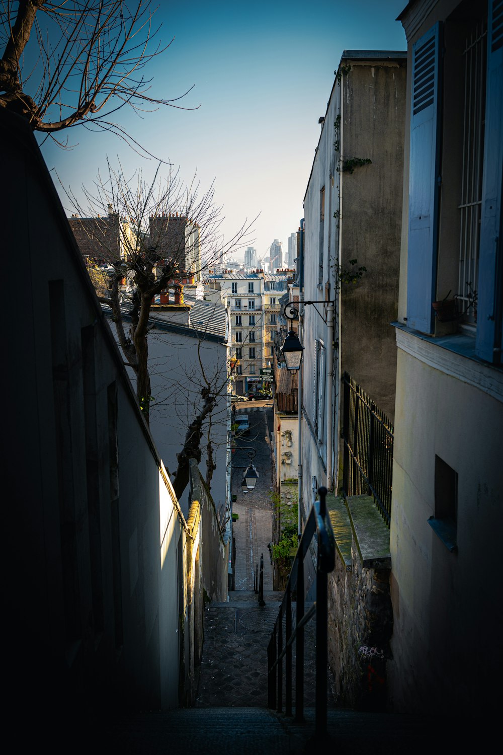
[[[197,172],[201,191],[214,180],[225,243],[256,218],[233,255],[238,260],[247,245],[264,258],[274,239],[281,239],[285,252],[303,217],[318,119],[327,109],[342,51],[405,50],[403,28],[395,20],[405,5],[406,0],[161,0],[157,39],[163,44],[174,39],[145,71],[152,77],[149,94],[171,99],[190,89],[178,102],[184,109],[161,107],[140,118],[124,107],[115,119],[150,153],[179,166],[187,182]],[[112,165],[120,160],[124,172],[141,168],[146,177],[158,165],[112,134],[79,127],[68,135],[72,149],[51,140],[41,149],[48,168],[77,195],[80,186],[92,187],[107,156]]]

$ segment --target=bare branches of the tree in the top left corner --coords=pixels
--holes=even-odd
[[[153,42],[155,10],[150,0],[2,0],[0,106],[53,137],[94,125],[140,147],[112,114],[124,105],[177,107],[181,99],[149,93],[144,69],[170,45]]]

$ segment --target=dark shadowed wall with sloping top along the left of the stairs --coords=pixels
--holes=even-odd
[[[5,114],[0,130],[25,292],[20,306],[8,287],[4,341],[5,681],[19,708],[29,680],[35,732],[57,709],[55,739],[85,736],[100,710],[177,704],[185,522],[32,132]],[[8,255],[5,274],[19,263]]]

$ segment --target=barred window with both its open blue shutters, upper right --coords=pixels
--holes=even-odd
[[[416,42],[412,62],[406,324],[440,332],[431,304],[455,295],[475,355],[499,363],[501,0],[461,3]]]

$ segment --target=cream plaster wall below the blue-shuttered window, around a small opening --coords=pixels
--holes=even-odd
[[[398,351],[388,668],[397,709],[474,714],[492,707],[486,690],[501,664],[490,650],[502,619],[501,427],[501,393],[489,396]],[[453,553],[428,525],[435,455],[458,473]]]

